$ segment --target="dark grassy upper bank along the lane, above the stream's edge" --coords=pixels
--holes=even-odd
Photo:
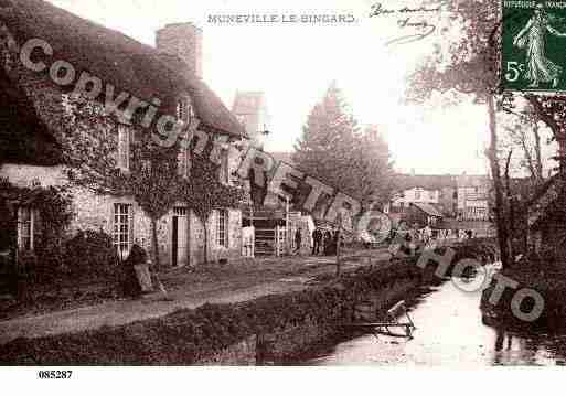
[[[340,281],[308,290],[267,296],[237,304],[205,304],[159,319],[40,339],[18,339],[0,346],[0,364],[19,365],[173,365],[195,364],[252,335],[277,333],[289,324],[332,327],[374,290],[401,279],[419,283],[414,263],[363,269]]]

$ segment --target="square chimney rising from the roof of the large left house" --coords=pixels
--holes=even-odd
[[[189,71],[202,78],[202,30],[193,23],[171,23],[158,30],[156,46],[159,52],[178,56]]]

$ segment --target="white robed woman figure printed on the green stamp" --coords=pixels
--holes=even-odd
[[[563,68],[546,57],[546,32],[558,38],[566,34],[551,26],[549,17],[543,4],[537,4],[533,17],[513,39],[513,45],[526,47],[526,74],[531,82],[528,87],[536,88],[540,83],[553,83],[556,88],[560,81]]]

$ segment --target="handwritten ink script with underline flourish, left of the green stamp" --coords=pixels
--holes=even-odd
[[[381,2],[372,4],[370,18],[394,17],[397,19],[399,29],[407,31],[407,34],[388,40],[385,45],[406,44],[423,40],[436,31],[436,24],[430,22],[434,13],[442,11],[448,0],[440,0],[436,6],[416,6],[402,8],[388,8]]]

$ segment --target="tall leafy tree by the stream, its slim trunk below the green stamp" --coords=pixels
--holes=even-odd
[[[500,2],[489,0],[469,0],[445,2],[442,6],[447,12],[442,13],[444,28],[441,32],[442,45],[437,45],[434,54],[427,57],[423,65],[412,75],[410,88],[407,97],[410,100],[423,101],[434,93],[452,94],[456,103],[466,96],[471,96],[477,104],[487,105],[488,130],[491,143],[487,150],[495,191],[494,214],[498,226],[498,239],[501,249],[503,266],[511,263],[511,248],[509,244],[510,205],[509,186],[508,200],[505,200],[505,185],[502,172],[509,174],[511,154],[504,164],[500,149],[500,132],[498,130],[498,115],[505,111],[516,114],[516,99],[524,97],[540,119],[551,129],[553,139],[558,142],[560,173],[566,171],[566,97],[541,96],[522,93],[503,93],[500,86],[500,54],[501,43],[499,36],[502,25],[500,15]],[[512,18],[512,17],[511,17]],[[455,34],[457,31],[457,34]],[[456,38],[456,39],[455,39]],[[524,116],[523,109],[519,111]],[[535,136],[536,139],[536,136]],[[536,154],[535,154],[536,156]],[[537,159],[534,159],[535,174],[540,174]],[[504,170],[504,171],[502,171]],[[540,183],[530,197],[520,204],[520,210],[526,208],[547,191],[558,178],[551,178]],[[508,178],[509,180],[509,178]],[[509,183],[508,183],[509,184]]]

